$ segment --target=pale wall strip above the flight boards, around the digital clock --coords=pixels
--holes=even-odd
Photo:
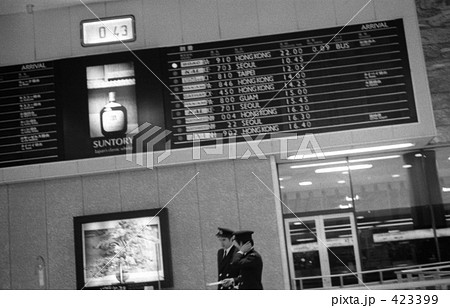
[[[372,0],[352,23],[401,17],[413,0]],[[130,0],[0,16],[0,65],[125,51],[123,45],[83,48],[80,21],[133,14],[137,41],[148,48],[347,23],[365,0]],[[95,15],[96,16],[95,16]],[[5,43],[7,42],[7,43]]]

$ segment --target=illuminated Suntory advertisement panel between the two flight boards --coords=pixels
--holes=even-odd
[[[65,159],[132,151],[145,123],[165,127],[160,49],[66,59],[58,63]],[[150,69],[150,70],[149,70]],[[155,145],[158,150],[158,145]]]

